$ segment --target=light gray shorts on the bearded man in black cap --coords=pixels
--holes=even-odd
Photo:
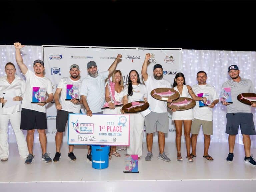
[[[168,133],[169,130],[169,119],[168,113],[156,113],[151,112],[145,117],[146,133],[154,133],[161,131]]]

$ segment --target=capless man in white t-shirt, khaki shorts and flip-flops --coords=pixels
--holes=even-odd
[[[212,123],[212,108],[219,102],[217,92],[212,85],[206,83],[207,74],[204,71],[199,71],[196,75],[198,84],[192,86],[192,90],[198,97],[206,97],[207,101],[203,104],[201,101],[196,102],[196,106],[193,109],[193,115],[195,120],[191,126],[191,157],[196,157],[196,142],[197,135],[202,125],[204,133],[204,155],[207,160],[212,161],[213,158],[208,154],[208,149],[211,142],[211,135],[213,134]],[[200,103],[201,102],[201,103]],[[199,107],[202,106],[202,107]]]

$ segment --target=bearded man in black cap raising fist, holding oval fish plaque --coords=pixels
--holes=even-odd
[[[171,83],[163,78],[163,68],[162,65],[156,64],[154,65],[154,77],[147,74],[147,66],[148,60],[150,59],[151,55],[149,53],[146,54],[141,74],[143,80],[146,85],[146,93],[148,98],[148,103],[151,108],[151,113],[149,113],[145,117],[145,124],[146,124],[146,133],[147,133],[147,148],[148,153],[145,158],[146,161],[151,161],[153,156],[152,154],[152,145],[153,145],[153,134],[154,132],[158,132],[158,143],[159,143],[159,155],[158,159],[164,161],[170,161],[170,159],[164,153],[164,146],[165,146],[165,133],[168,133],[169,130],[169,119],[168,119],[168,112],[167,112],[167,103],[164,101],[160,101],[154,99],[150,92],[156,88],[171,88]],[[168,99],[168,102],[172,102]]]

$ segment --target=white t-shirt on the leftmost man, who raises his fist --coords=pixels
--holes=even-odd
[[[48,79],[45,76],[44,77],[36,76],[35,73],[32,72],[30,69],[28,69],[27,73],[24,75],[26,77],[26,85],[25,85],[25,93],[22,100],[21,108],[46,113],[45,105],[40,106],[40,105],[37,105],[36,103],[31,103],[32,91],[33,91],[33,87],[40,87],[40,88],[44,88],[47,94],[51,94],[53,93],[52,82],[50,81],[50,79]]]

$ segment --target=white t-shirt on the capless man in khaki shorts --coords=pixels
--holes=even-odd
[[[193,85],[193,92],[197,94],[203,93],[203,96],[207,98],[207,105],[210,105],[214,100],[219,99],[215,88],[212,85]],[[212,121],[212,108],[210,107],[199,107],[199,102],[196,101],[196,106],[193,109],[193,114],[195,119],[201,119],[204,121]]]

